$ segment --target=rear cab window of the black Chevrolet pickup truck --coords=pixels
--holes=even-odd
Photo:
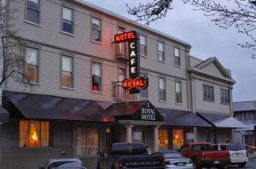
[[[144,144],[114,144],[110,150],[111,155],[148,155]]]

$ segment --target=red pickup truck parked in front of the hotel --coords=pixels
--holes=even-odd
[[[212,144],[184,144],[181,147],[180,151],[183,156],[190,158],[193,161],[196,169],[211,166],[223,168],[230,161],[229,151],[216,151],[212,148]]]

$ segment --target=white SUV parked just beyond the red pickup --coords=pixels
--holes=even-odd
[[[228,150],[230,152],[230,164],[238,165],[240,168],[246,166],[248,161],[247,150],[241,144],[214,144],[215,150]]]

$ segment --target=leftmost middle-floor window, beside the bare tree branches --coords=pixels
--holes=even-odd
[[[26,48],[26,81],[38,82],[38,49]]]

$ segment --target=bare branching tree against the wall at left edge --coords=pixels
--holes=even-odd
[[[26,80],[26,43],[20,39],[11,24],[15,20],[15,8],[9,8],[10,3],[17,0],[2,0],[0,2],[0,87],[3,82],[12,78],[15,82],[28,84]]]

